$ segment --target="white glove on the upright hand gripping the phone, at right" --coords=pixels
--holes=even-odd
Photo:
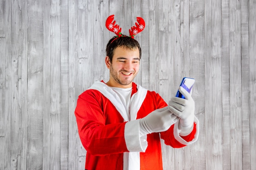
[[[168,109],[171,113],[180,117],[180,124],[178,127],[181,130],[180,135],[186,136],[192,132],[194,127],[195,102],[189,92],[183,87],[180,86],[179,91],[184,95],[185,99],[172,97],[169,101]]]

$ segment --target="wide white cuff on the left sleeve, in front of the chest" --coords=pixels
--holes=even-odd
[[[139,119],[125,124],[124,139],[129,152],[145,152],[148,147],[147,135],[139,137]]]

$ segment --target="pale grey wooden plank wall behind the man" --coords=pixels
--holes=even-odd
[[[108,81],[106,18],[146,28],[135,82],[168,102],[195,78],[200,137],[164,170],[256,167],[256,0],[0,0],[0,170],[83,170],[76,99]]]

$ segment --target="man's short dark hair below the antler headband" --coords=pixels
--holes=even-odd
[[[116,39],[116,40],[115,40]],[[141,58],[141,48],[139,45],[139,42],[137,40],[130,38],[126,35],[123,35],[122,37],[117,38],[117,36],[111,38],[108,41],[107,47],[106,47],[106,53],[109,57],[110,62],[112,63],[113,58],[113,51],[117,48],[123,46],[128,49],[139,49],[139,58]]]

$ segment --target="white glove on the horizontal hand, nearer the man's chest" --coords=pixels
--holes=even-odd
[[[140,136],[153,132],[164,132],[179,119],[176,115],[168,110],[168,106],[154,110],[146,117],[140,119],[139,130]]]

